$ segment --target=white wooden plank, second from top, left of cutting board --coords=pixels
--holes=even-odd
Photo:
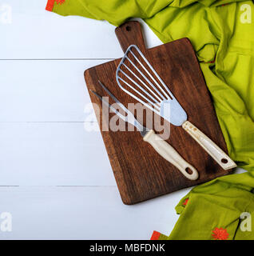
[[[84,71],[106,61],[0,61],[0,122],[83,122]]]

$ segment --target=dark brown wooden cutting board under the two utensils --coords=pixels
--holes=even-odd
[[[186,110],[189,121],[227,152],[208,88],[189,39],[183,38],[147,50],[139,22],[125,23],[116,29],[116,34],[124,51],[131,44],[136,44],[143,51],[165,84],[170,85],[169,89]],[[88,90],[94,90],[101,96],[108,96],[98,86],[97,81],[101,80],[127,106],[128,103],[136,101],[117,86],[116,70],[120,61],[117,59],[85,70],[85,82]],[[101,109],[100,100],[90,91],[89,94],[91,101]],[[97,114],[100,126],[101,115],[102,110]],[[112,115],[109,114],[109,117]],[[125,204],[142,202],[208,182],[231,171],[223,170],[181,126],[176,127],[168,123],[167,127],[170,129],[167,142],[187,162],[196,167],[200,174],[196,181],[185,178],[175,166],[157,154],[152,146],[143,141],[138,131],[101,131],[113,174]]]

